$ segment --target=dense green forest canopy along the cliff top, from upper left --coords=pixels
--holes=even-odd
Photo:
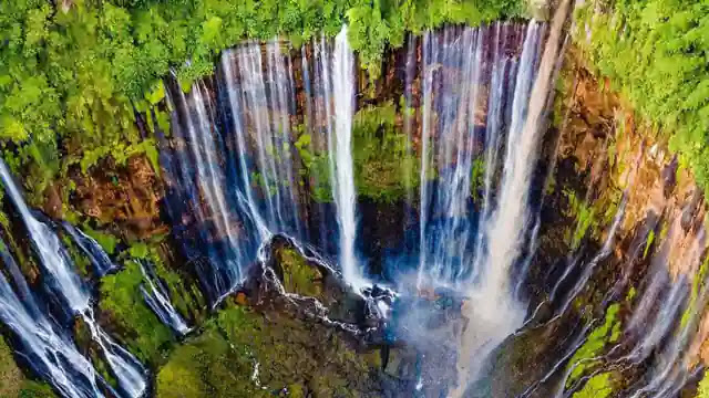
[[[522,0],[7,0],[0,4],[0,139],[23,169],[31,202],[72,165],[106,156],[123,164],[157,150],[136,119],[167,130],[162,78],[183,86],[209,74],[218,52],[245,38],[278,34],[294,44],[349,24],[349,41],[372,75],[404,32],[444,22],[479,24],[521,15]]]

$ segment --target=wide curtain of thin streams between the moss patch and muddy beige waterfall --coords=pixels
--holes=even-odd
[[[510,49],[526,38],[520,60]],[[536,71],[542,25],[499,23],[477,29],[446,28],[442,34],[428,32],[422,43],[422,116],[418,284],[465,286],[476,281],[491,244],[493,180],[500,147],[510,126],[505,170],[515,158],[515,135],[522,128],[526,102]],[[489,60],[484,54],[492,54]],[[507,76],[514,76],[516,84]],[[451,67],[458,73],[442,69]],[[465,82],[461,84],[461,82]],[[487,95],[483,88],[487,88]],[[513,97],[513,101],[508,98]],[[512,103],[512,104],[511,104]],[[507,105],[505,105],[507,104]],[[505,107],[511,107],[506,121]],[[484,115],[484,116],[481,116]],[[480,148],[483,147],[484,151]],[[533,164],[533,161],[531,161]],[[482,208],[474,210],[471,190],[477,189],[472,169],[482,174]],[[530,170],[533,166],[528,166]],[[433,179],[436,178],[435,181]],[[511,228],[515,228],[512,226]]]

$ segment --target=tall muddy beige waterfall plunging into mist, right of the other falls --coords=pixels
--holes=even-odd
[[[483,261],[484,268],[479,271],[480,280],[469,287],[472,303],[463,310],[471,320],[471,325],[462,336],[458,360],[459,383],[451,392],[452,397],[463,396],[470,380],[475,379],[481,370],[480,358],[486,358],[524,320],[523,305],[517,302],[510,286],[510,271],[520,255],[525,231],[530,226],[527,201],[532,172],[538,156],[537,147],[543,134],[542,116],[552,88],[554,70],[558,67],[561,34],[568,17],[568,8],[569,0],[565,0],[554,15],[533,86],[533,73],[527,71],[536,62],[532,61],[533,56],[525,60],[525,55],[536,52],[541,34],[536,22],[530,22],[527,29],[515,85],[497,207],[483,232],[489,250]],[[527,94],[530,87],[532,90]],[[528,107],[523,106],[520,101],[528,101]]]

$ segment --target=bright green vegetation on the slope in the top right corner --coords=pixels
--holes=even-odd
[[[576,43],[595,72],[669,137],[670,149],[709,192],[709,3],[597,3],[578,10]],[[599,6],[605,12],[595,11]]]

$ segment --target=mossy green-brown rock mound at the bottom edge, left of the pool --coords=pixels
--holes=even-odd
[[[380,364],[369,357],[323,327],[229,306],[173,352],[156,396],[273,397],[287,389],[292,397],[356,397],[371,391],[362,383]]]

